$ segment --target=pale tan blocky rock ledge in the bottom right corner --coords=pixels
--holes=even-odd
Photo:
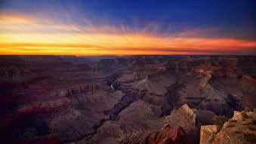
[[[217,125],[201,127],[200,144],[256,143],[256,113],[236,112],[222,128]]]

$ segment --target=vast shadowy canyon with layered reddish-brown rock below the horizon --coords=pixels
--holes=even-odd
[[[254,55],[1,55],[0,137],[17,144],[254,143],[255,64]],[[214,124],[220,115],[229,118],[223,127]]]

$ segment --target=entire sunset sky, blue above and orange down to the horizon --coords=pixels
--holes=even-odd
[[[256,55],[254,0],[0,0],[0,55]]]

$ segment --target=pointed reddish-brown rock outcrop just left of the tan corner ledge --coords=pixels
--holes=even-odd
[[[149,115],[149,114],[147,114]],[[145,123],[150,120],[145,119]],[[122,138],[121,144],[196,144],[196,113],[187,104],[174,110],[171,115],[152,121],[151,124],[159,124],[156,128],[150,128],[145,132],[133,132]],[[137,125],[137,127],[141,127]],[[161,127],[161,128],[159,128]]]

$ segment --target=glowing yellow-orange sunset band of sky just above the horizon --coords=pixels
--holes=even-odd
[[[53,20],[0,13],[1,55],[171,55],[255,52],[256,41],[128,31],[113,26],[67,25]],[[149,24],[150,28],[152,24]],[[157,27],[157,24],[156,24]],[[148,28],[145,28],[148,29]],[[207,29],[206,29],[207,31]]]

